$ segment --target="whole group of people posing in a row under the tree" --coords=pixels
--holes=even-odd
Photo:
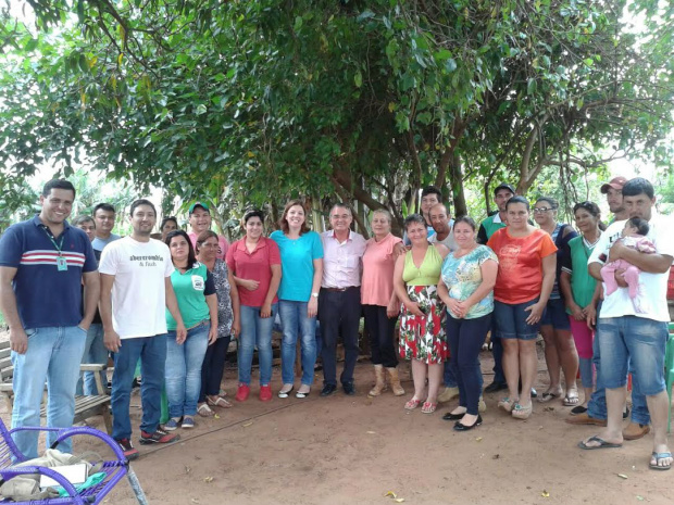
[[[264,214],[250,211],[241,220],[244,238],[229,244],[211,231],[203,202],[189,207],[189,233],[166,217],[159,240],[151,238],[157,211],[148,200],[132,204],[128,237],[111,232],[115,210],[108,204],[73,227],[65,219],[75,189],[52,180],[40,197],[40,214],[0,239],[0,304],[10,326],[17,399],[12,426],[39,424],[45,380],[49,426],[70,426],[75,392],[92,394],[95,388],[91,377],[78,386],[79,357],[100,363],[110,351],[113,438],[125,455],[138,455],[128,416],[138,364],[140,443],[173,442],[173,431],[192,428],[197,415],[232,406],[221,390],[232,339],[238,340],[235,400],[250,396],[255,349],[259,400],[272,400],[276,316],[283,330],[278,397],[311,394],[319,355],[320,395],[334,394],[338,384],[353,395],[362,316],[374,365],[370,396],[389,387],[403,395],[398,361],[409,359],[414,391],[405,409],[421,406],[432,414],[458,395],[444,419],[454,421],[457,431],[480,426],[486,405],[479,352],[490,334],[495,379],[484,391],[507,390],[499,408],[527,419],[537,395],[540,333],[550,381],[538,401],[561,399],[573,407],[570,422],[607,427],[581,447],[620,446],[648,433],[652,419],[650,467],[669,469],[663,367],[674,241],[656,214],[648,180],[616,177],[601,192],[614,222],[606,228],[596,203],[577,203],[579,235],[558,223],[554,199],[541,197],[531,207],[501,184],[494,191],[498,211],[479,225],[467,216],[451,219],[441,192],[427,187],[422,213],[407,217],[402,239],[391,232],[390,213],[376,210],[366,240],[351,229],[353,216],[344,203],[330,209],[330,229],[317,233],[302,201],[292,200],[278,230],[266,237]],[[339,339],[345,359],[338,382]],[[633,415],[623,430],[628,373]],[[162,391],[168,419],[160,425]],[[37,455],[32,432],[17,434],[16,443],[27,456]]]

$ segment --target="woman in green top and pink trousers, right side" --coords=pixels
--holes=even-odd
[[[585,393],[583,403],[572,408],[571,413],[583,414],[587,412],[587,403],[594,390],[595,332],[587,327],[586,318],[594,317],[597,308],[594,296],[597,281],[587,270],[587,261],[601,237],[601,211],[596,203],[582,202],[574,205],[573,214],[582,236],[571,239],[563,251],[560,288],[566,303],[571,333],[578,351],[581,384]]]

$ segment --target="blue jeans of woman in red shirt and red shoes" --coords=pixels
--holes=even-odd
[[[250,386],[250,368],[252,356],[258,345],[258,361],[260,362],[260,384],[266,386],[272,381],[272,328],[274,314],[278,304],[272,305],[272,317],[260,317],[261,307],[241,305],[241,334],[238,344],[239,382]]]

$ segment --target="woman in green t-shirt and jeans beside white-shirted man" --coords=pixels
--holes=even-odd
[[[166,236],[174,273],[171,283],[178,310],[187,328],[187,338],[176,338],[176,321],[166,311],[166,400],[167,431],[195,427],[197,403],[201,392],[201,365],[207,348],[217,339],[217,295],[213,277],[205,265],[197,262],[195,249],[183,230]]]

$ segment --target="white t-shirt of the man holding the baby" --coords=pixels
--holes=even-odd
[[[671,216],[661,216],[653,212],[648,225],[650,229],[646,237],[656,245],[656,253],[674,257],[674,233],[672,233],[674,229],[674,218]],[[609,249],[611,249],[611,245],[620,238],[623,228],[625,228],[625,222],[619,220],[613,223],[601,233],[599,242],[587,262],[588,265],[590,263],[606,263]],[[669,323],[670,311],[667,310],[666,301],[669,276],[669,269],[663,274],[648,274],[646,272],[639,274],[639,283],[641,285],[639,298],[644,301],[642,307],[646,310],[644,313],[636,312],[627,288],[619,288],[615,292],[607,296],[604,285],[603,303],[601,304],[601,313],[599,316],[637,316]]]

